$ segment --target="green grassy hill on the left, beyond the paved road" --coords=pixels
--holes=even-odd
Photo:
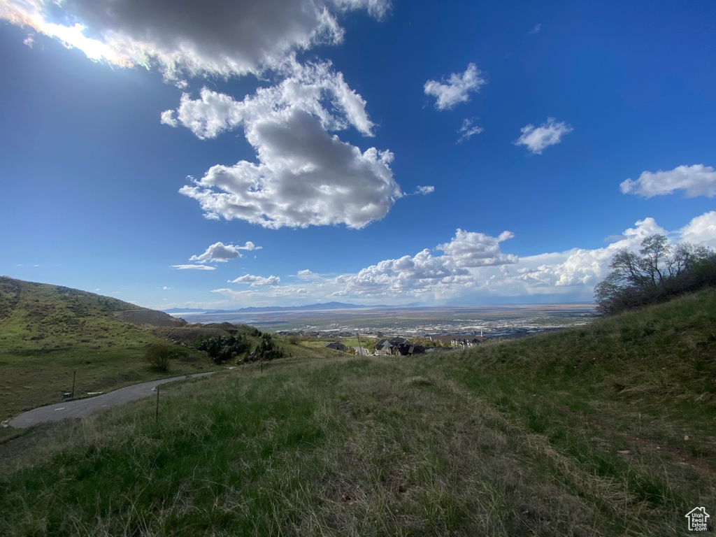
[[[163,376],[142,360],[147,345],[163,341],[145,323],[185,324],[108,296],[0,277],[0,420],[56,402],[74,371],[75,395]],[[179,348],[185,357],[168,374],[211,367]]]

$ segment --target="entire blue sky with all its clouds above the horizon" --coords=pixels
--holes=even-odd
[[[589,301],[651,233],[716,246],[716,4],[163,4],[0,4],[0,274]]]

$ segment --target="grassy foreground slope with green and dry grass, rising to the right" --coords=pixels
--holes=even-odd
[[[464,353],[175,384],[158,422],[144,400],[1,444],[0,534],[687,534],[716,505],[715,331],[708,291]]]

